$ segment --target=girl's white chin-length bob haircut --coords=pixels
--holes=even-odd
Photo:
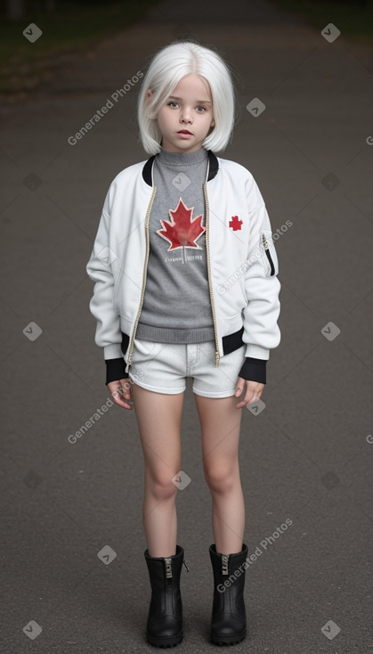
[[[191,41],[174,41],[153,56],[138,96],[140,138],[144,150],[149,154],[160,151],[162,134],[155,118],[158,110],[180,80],[190,73],[205,78],[212,95],[215,127],[202,142],[202,146],[207,150],[221,151],[230,142],[237,100],[229,65],[209,47]],[[149,88],[153,94],[146,103]]]

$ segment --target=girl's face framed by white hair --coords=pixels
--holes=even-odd
[[[150,89],[146,95],[152,95]],[[194,152],[215,126],[210,86],[205,78],[190,73],[175,86],[174,91],[158,110],[161,146],[170,152]],[[180,132],[188,131],[190,135]]]

